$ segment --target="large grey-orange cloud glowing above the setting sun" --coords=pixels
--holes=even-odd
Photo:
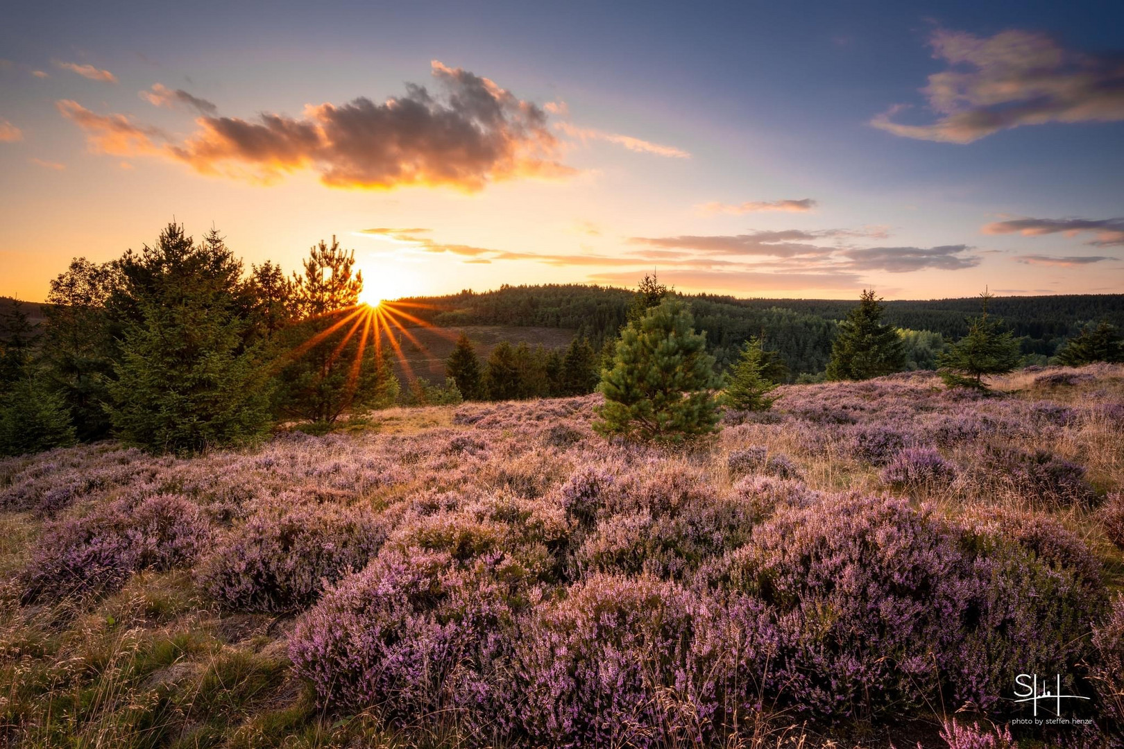
[[[402,97],[309,106],[301,118],[201,117],[200,130],[170,154],[202,174],[260,182],[311,170],[333,188],[475,191],[573,173],[556,161],[559,144],[541,108],[459,67],[434,61],[432,72],[445,95],[408,83]]]

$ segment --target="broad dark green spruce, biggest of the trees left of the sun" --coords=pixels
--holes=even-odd
[[[127,444],[152,451],[237,445],[268,427],[259,350],[238,316],[242,265],[218,232],[199,244],[169,225],[155,247],[120,262],[137,319],[124,332],[109,415]]]

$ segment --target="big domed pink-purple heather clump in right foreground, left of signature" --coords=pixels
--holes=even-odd
[[[954,645],[950,622],[969,603],[955,535],[891,499],[781,509],[708,573],[768,606],[777,650],[765,694],[821,715],[924,704],[933,658]],[[761,623],[749,624],[754,641]]]

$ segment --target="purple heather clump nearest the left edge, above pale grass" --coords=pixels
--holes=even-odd
[[[139,569],[188,567],[209,538],[203,513],[181,496],[101,505],[48,526],[24,572],[24,599],[108,592]]]

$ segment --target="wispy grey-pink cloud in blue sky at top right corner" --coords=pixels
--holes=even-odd
[[[906,138],[967,144],[1023,125],[1124,120],[1124,60],[1069,52],[1050,37],[1012,29],[980,38],[937,29],[933,56],[950,70],[928,76],[922,89],[941,117],[931,125],[903,125],[896,104],[874,117],[874,127]]]

